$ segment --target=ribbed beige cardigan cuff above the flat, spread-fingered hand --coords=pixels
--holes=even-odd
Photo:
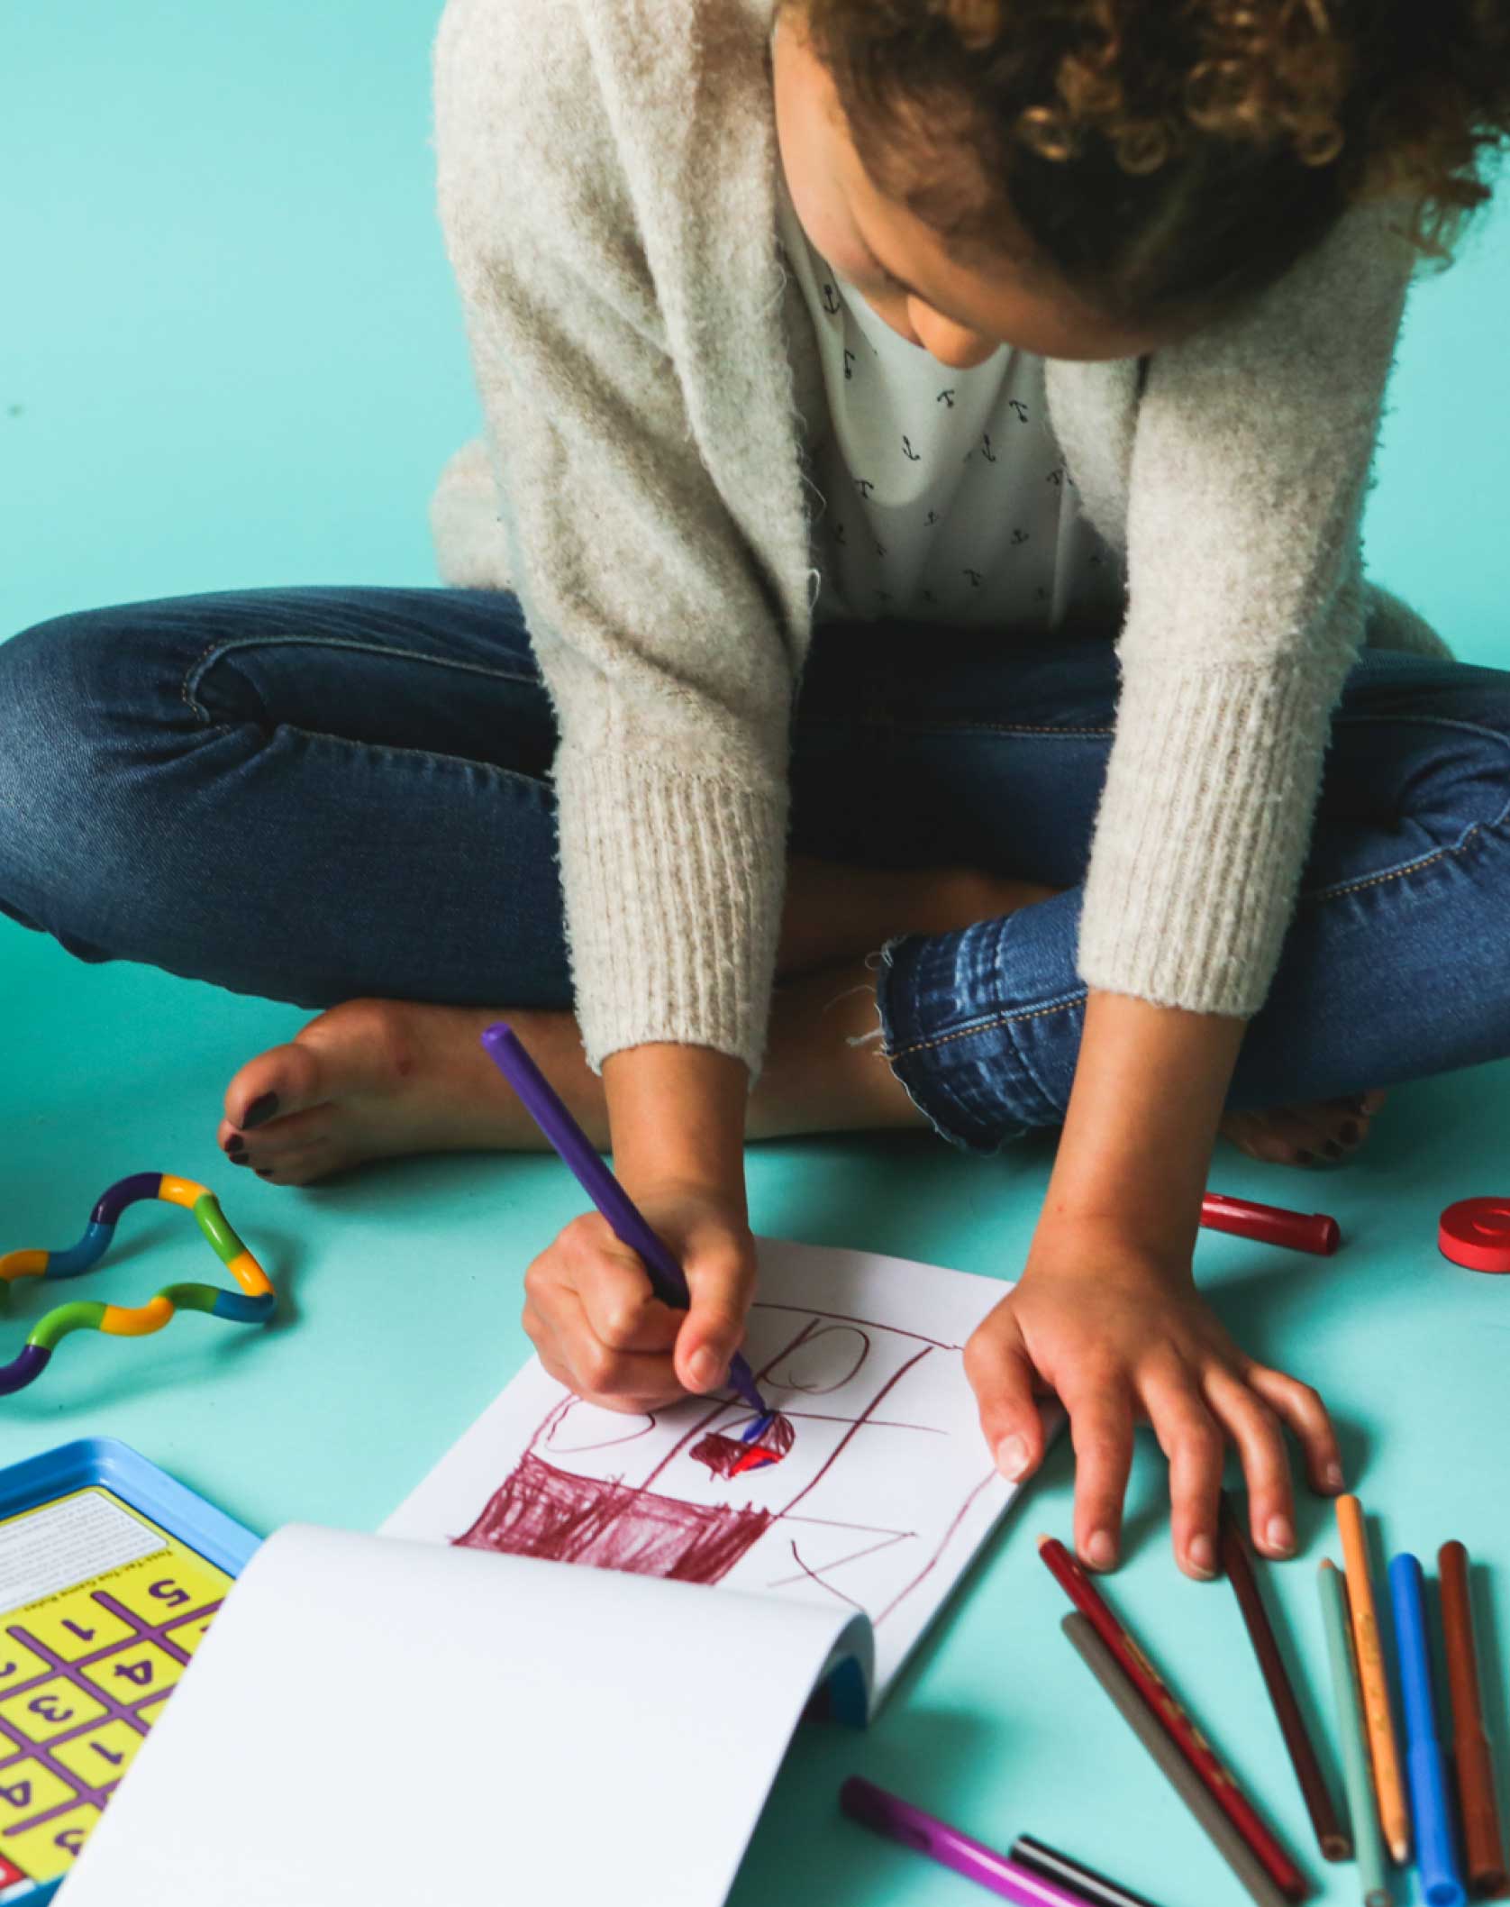
[[[1125,671],[1085,881],[1087,986],[1192,1013],[1262,1007],[1344,673],[1325,656]]]

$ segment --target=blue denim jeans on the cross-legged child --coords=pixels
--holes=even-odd
[[[789,849],[1064,891],[877,963],[883,1051],[953,1144],[1058,1125],[1079,881],[1117,698],[1106,631],[820,627]],[[0,645],[0,906],[80,959],[242,994],[570,1009],[522,612],[292,587],[53,618]],[[1365,652],[1232,1106],[1510,1055],[1510,675]]]

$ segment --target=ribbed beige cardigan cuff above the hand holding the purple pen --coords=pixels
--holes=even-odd
[[[555,763],[572,982],[587,1064],[648,1041],[713,1047],[755,1083],[786,885],[784,788],[641,755]]]

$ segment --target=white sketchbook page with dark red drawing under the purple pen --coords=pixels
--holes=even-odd
[[[747,1405],[595,1409],[536,1360],[383,1535],[595,1562],[864,1610],[875,1703],[1016,1489],[991,1465],[961,1352],[1010,1285],[763,1238],[745,1356],[793,1428],[776,1465],[719,1476],[709,1434]]]

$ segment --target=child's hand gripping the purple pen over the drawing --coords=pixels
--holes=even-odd
[[[734,1205],[702,1188],[637,1192],[635,1203],[686,1272],[690,1310],[652,1295],[639,1255],[595,1211],[572,1219],[524,1274],[524,1329],[540,1362],[610,1411],[717,1390],[755,1295],[755,1240]]]

